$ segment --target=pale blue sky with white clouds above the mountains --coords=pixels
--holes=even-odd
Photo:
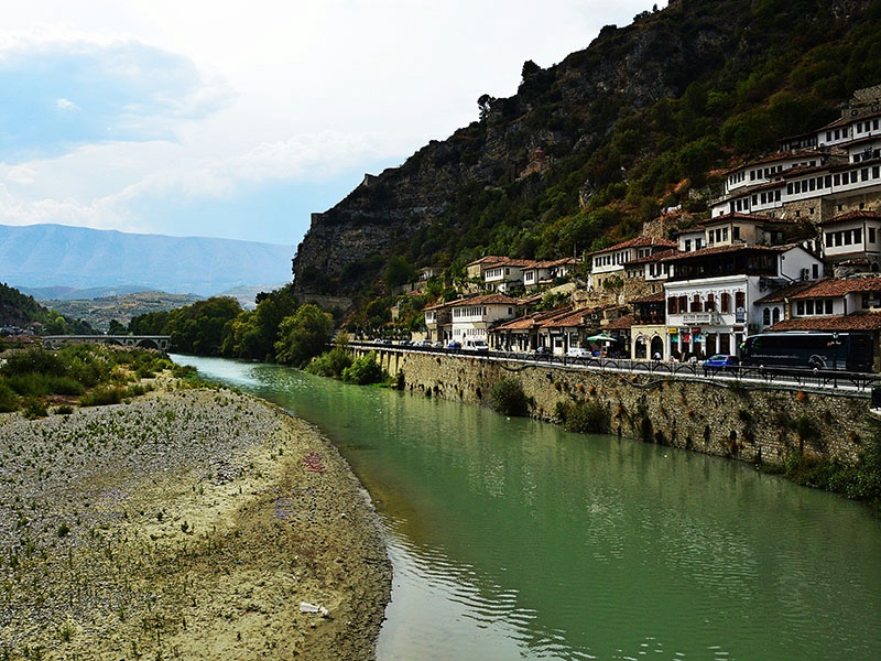
[[[0,224],[295,247],[650,0],[29,0],[0,25]]]

